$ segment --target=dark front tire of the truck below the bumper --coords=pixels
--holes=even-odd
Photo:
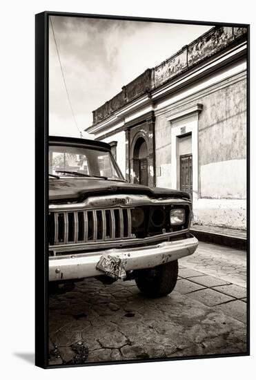
[[[157,298],[173,292],[178,277],[178,261],[150,269],[140,269],[135,278],[137,287],[144,296]]]

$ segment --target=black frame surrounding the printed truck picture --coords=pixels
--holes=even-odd
[[[48,122],[49,122],[49,75],[48,75],[48,26],[50,16],[87,17],[130,21],[153,21],[159,23],[186,23],[208,26],[239,26],[248,30],[247,48],[247,352],[242,354],[210,354],[200,357],[172,357],[164,359],[130,359],[84,363],[78,365],[48,365]],[[46,11],[35,15],[35,365],[41,368],[64,368],[86,365],[141,363],[216,357],[250,355],[250,25],[247,23],[219,23],[214,21],[192,21],[124,17],[117,15],[92,15],[72,12]]]

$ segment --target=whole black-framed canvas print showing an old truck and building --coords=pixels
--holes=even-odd
[[[36,15],[36,365],[249,354],[248,54],[242,23]]]

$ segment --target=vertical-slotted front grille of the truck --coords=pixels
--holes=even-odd
[[[50,212],[50,245],[132,238],[130,209]]]

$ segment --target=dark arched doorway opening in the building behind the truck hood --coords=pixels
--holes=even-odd
[[[148,186],[148,146],[143,137],[139,137],[133,150],[134,182]]]

